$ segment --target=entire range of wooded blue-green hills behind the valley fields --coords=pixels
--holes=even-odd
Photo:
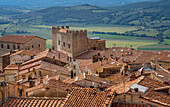
[[[170,27],[170,0],[141,2],[113,9],[91,5],[55,6],[27,13],[14,19],[41,24],[87,23]]]

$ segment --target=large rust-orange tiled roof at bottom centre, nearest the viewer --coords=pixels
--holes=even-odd
[[[99,92],[93,88],[75,88],[67,96],[62,107],[108,107],[111,104],[113,92]]]

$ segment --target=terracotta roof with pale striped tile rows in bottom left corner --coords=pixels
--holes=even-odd
[[[59,107],[64,98],[15,98],[9,97],[1,107]]]

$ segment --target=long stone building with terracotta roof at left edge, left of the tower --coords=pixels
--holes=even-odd
[[[0,38],[0,56],[17,49],[44,51],[46,49],[46,39],[24,35],[5,35]],[[0,57],[1,72],[3,71],[2,62],[5,63]]]

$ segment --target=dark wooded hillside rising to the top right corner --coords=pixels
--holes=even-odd
[[[108,23],[142,25],[145,27],[170,27],[170,0],[129,4],[114,8]]]

